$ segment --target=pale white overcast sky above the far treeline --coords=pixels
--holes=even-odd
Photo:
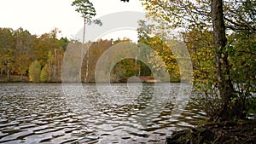
[[[73,0],[2,0],[0,27],[9,27],[14,30],[22,27],[36,35],[58,28],[61,31],[58,37],[76,37],[76,34],[83,28],[83,19],[71,6],[72,2]],[[90,0],[90,2],[96,9],[96,18],[123,11],[143,13],[142,4],[138,0],[130,0],[129,3],[120,0]],[[131,36],[128,37],[131,39],[137,37],[130,30],[108,33],[108,36],[104,37],[108,38],[112,35],[116,39],[129,34]]]

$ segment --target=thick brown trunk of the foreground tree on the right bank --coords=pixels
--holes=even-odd
[[[212,0],[212,26],[215,46],[215,68],[218,78],[218,90],[221,97],[221,110],[218,117],[230,119],[239,115],[239,110],[231,102],[235,98],[235,90],[230,79],[228,52],[225,51],[227,38],[225,35],[223,1]],[[237,111],[238,110],[238,111]]]

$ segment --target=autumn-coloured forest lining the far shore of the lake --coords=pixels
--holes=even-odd
[[[145,21],[140,20],[139,23],[141,27],[138,29],[140,32],[138,44],[132,42],[129,38],[99,39],[96,42],[84,43],[84,47],[88,51],[84,55],[81,68],[82,82],[95,83],[96,62],[101,55],[113,45],[125,42],[131,43],[135,47],[143,47],[142,43],[150,44],[151,48],[157,51],[161,59],[166,62],[165,65],[156,62],[152,59],[156,56],[154,53],[150,54],[150,52],[142,51],[141,54],[144,54],[143,56],[146,57],[145,59],[147,59],[150,67],[154,67],[156,71],[166,68],[172,77],[172,82],[179,81],[179,69],[172,51],[159,37],[148,37]],[[66,49],[73,49],[74,52],[78,50],[76,49],[78,46],[75,46],[75,48],[73,46],[81,44],[79,41],[67,39],[67,37],[58,39],[56,37],[59,32],[58,29],[41,36],[32,35],[22,28],[17,30],[1,28],[0,32],[2,36],[0,78],[6,82],[61,82],[61,66]],[[179,42],[173,40],[173,44],[178,46]],[[79,64],[72,63],[70,65]],[[113,67],[111,81],[125,82],[131,76],[153,77],[150,67],[140,60],[121,60]],[[72,71],[72,67],[70,67],[70,71]]]

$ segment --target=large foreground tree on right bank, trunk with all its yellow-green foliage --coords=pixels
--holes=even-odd
[[[255,38],[256,2],[251,0],[141,1],[149,19],[171,26],[173,29],[181,28],[183,41],[187,44],[194,63],[195,87],[201,85],[208,100],[210,97],[211,99],[218,98],[214,101],[219,100],[218,108],[208,101],[212,105],[212,113],[208,113],[214,118],[244,117],[245,103],[251,96],[249,91],[252,91],[248,89],[253,89],[253,85],[247,81],[242,84],[241,89],[236,89],[238,85],[241,85],[236,83],[237,78],[243,79],[243,76],[238,74],[241,72],[237,69],[236,71],[232,69],[238,64],[233,63],[233,58],[234,55],[238,55],[239,51],[243,51],[238,49],[244,49],[246,45],[247,50],[243,51],[243,55],[251,57],[247,57],[249,60],[244,62],[247,66],[255,66],[252,61],[255,49],[253,49],[254,42],[247,41],[245,44],[245,39],[242,40],[243,42],[240,41],[240,44],[235,44],[237,37],[233,36],[249,35]],[[207,75],[202,75],[203,72],[207,72]],[[253,78],[252,81],[255,82],[253,70],[251,69],[249,73],[247,76]],[[235,75],[236,78],[234,78]],[[218,88],[218,90],[212,88]]]

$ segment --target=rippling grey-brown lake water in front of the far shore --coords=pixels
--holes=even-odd
[[[179,99],[180,88],[0,84],[0,143],[165,143],[206,120],[196,95]]]

